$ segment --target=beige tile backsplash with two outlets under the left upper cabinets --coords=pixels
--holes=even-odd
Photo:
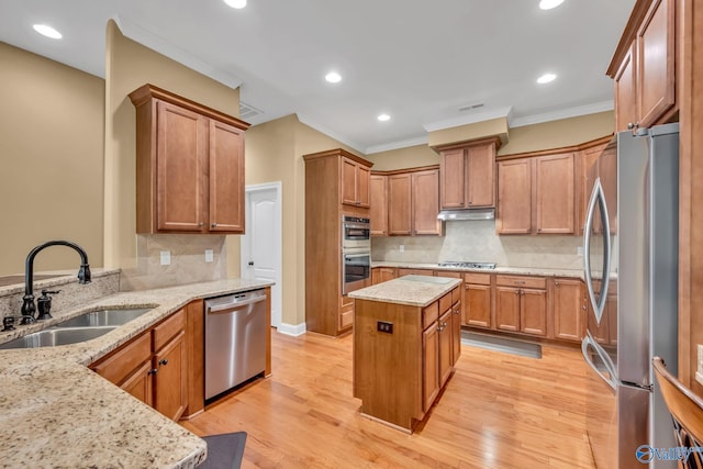
[[[120,290],[147,290],[225,279],[225,246],[224,235],[137,235],[137,266],[122,269]],[[205,263],[205,249],[212,249],[211,263]],[[161,252],[169,253],[169,265],[161,265]]]

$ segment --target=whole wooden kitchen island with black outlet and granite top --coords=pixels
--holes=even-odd
[[[460,279],[405,276],[349,293],[361,414],[412,433],[460,354]]]

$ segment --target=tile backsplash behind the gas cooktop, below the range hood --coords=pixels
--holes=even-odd
[[[494,220],[445,223],[445,236],[373,237],[372,260],[423,264],[471,260],[510,267],[583,268],[579,254],[583,245],[581,236],[499,236]]]

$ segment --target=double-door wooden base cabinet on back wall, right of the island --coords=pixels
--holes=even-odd
[[[546,337],[546,279],[496,275],[495,327],[498,331]]]

